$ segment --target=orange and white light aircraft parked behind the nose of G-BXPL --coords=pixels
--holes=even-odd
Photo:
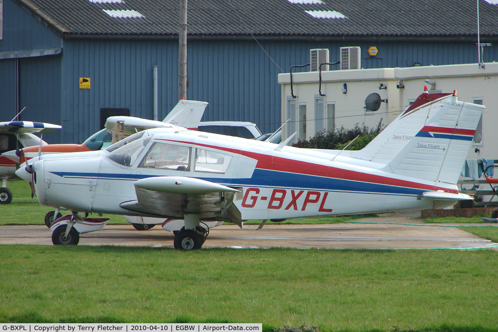
[[[181,99],[162,122],[134,116],[111,116],[106,120],[106,128],[91,135],[82,144],[48,144],[42,146],[41,154],[101,150],[138,131],[147,128],[168,127],[169,124],[195,129],[207,106],[206,102]],[[3,153],[2,156],[16,163],[23,163],[40,154],[37,146],[26,147],[20,151],[11,150]]]

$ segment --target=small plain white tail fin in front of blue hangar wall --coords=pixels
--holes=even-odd
[[[197,128],[207,106],[206,102],[182,99],[162,121],[189,129]]]

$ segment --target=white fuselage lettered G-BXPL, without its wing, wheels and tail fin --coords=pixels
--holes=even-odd
[[[424,192],[458,193],[455,185],[393,174],[348,157],[195,131],[154,134],[126,156],[41,160],[34,165],[40,204],[71,211],[144,215],[121,207],[137,199],[134,183],[159,176],[198,178],[241,190],[243,220],[285,219],[451,206]],[[145,144],[145,145],[143,145]],[[177,164],[151,157],[174,151]],[[168,150],[169,149],[169,150]],[[140,151],[138,151],[140,150]],[[172,152],[171,152],[172,153]],[[164,158],[162,158],[164,159]],[[180,165],[181,164],[181,165]],[[168,217],[168,216],[164,216]]]

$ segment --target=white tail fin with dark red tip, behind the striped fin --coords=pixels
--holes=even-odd
[[[451,98],[451,94],[421,94],[406,111],[384,128],[366,147],[351,157],[389,163]]]

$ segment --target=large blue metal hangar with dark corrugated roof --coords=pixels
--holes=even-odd
[[[187,99],[203,120],[280,126],[277,74],[310,49],[360,46],[363,68],[498,56],[497,0],[189,0]],[[61,124],[79,142],[114,114],[158,118],[178,102],[179,0],[0,0],[0,114]],[[373,48],[374,47],[374,48]],[[376,51],[375,51],[376,50]],[[156,71],[155,71],[156,68]],[[336,69],[334,66],[331,70]],[[338,69],[338,68],[337,68]],[[309,70],[309,69],[302,69]]]

